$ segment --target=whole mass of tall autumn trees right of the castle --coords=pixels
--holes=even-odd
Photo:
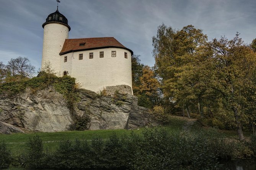
[[[240,140],[242,125],[256,115],[255,39],[246,45],[237,33],[208,42],[192,25],[175,30],[162,24],[153,37],[155,71],[160,77],[165,107],[210,117],[233,113]],[[229,117],[229,116],[228,116]]]

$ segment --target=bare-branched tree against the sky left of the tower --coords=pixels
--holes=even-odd
[[[6,67],[9,75],[13,77],[32,77],[35,72],[35,67],[31,65],[29,59],[21,56],[11,58]]]

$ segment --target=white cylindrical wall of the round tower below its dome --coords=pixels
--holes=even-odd
[[[59,23],[49,23],[44,26],[41,68],[47,61],[50,61],[52,69],[57,74],[60,72],[61,58],[59,53],[66,38],[68,38],[67,26]]]

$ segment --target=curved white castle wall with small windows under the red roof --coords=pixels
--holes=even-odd
[[[104,58],[99,58],[99,52],[104,51]],[[111,57],[111,51],[116,51],[116,57]],[[124,52],[128,58],[124,58]],[[93,53],[93,59],[89,59]],[[83,59],[79,60],[79,54]],[[64,63],[64,56],[67,62]],[[98,92],[107,86],[129,85],[132,87],[131,53],[122,48],[103,48],[68,53],[60,56],[60,72],[68,71],[75,77],[82,88]]]

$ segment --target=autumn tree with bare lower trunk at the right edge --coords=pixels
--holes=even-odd
[[[212,56],[207,64],[213,68],[209,85],[222,96],[223,105],[233,111],[239,139],[244,140],[241,122],[246,113],[255,114],[256,109],[256,53],[243,44],[239,34],[233,40],[215,38],[209,47]]]

